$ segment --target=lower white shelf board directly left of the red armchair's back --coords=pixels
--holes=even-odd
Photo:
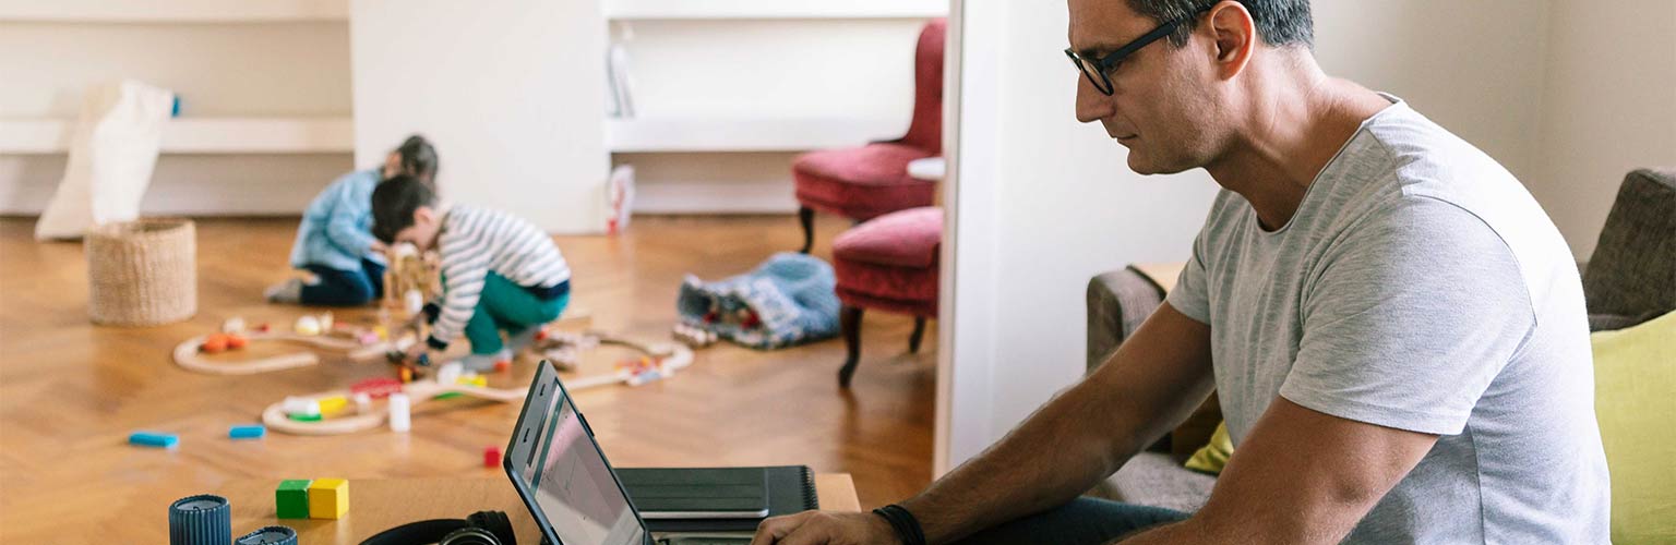
[[[635,152],[799,152],[863,145],[902,137],[898,119],[779,117],[779,119],[612,119],[605,147]]]

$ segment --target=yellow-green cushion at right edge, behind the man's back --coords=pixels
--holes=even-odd
[[[1612,542],[1676,542],[1676,313],[1591,339]]]

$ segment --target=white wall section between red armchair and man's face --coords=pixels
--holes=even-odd
[[[1098,272],[1178,261],[1208,176],[1141,177],[1076,122],[1063,3],[960,2],[959,129],[944,257],[937,475],[977,455],[1083,373],[1083,293]],[[949,291],[945,291],[949,293]]]

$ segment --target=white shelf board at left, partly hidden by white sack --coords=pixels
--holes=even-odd
[[[75,122],[0,119],[0,154],[62,154]],[[349,117],[181,117],[163,127],[164,154],[345,154]]]

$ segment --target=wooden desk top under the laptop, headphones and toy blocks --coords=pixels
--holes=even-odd
[[[238,480],[216,490],[166,490],[149,495],[153,502],[134,502],[119,515],[131,523],[134,535],[121,537],[129,543],[168,543],[171,502],[194,495],[215,493],[233,505],[233,537],[268,525],[297,530],[298,543],[360,543],[385,528],[426,518],[466,518],[473,512],[506,512],[518,532],[518,543],[540,543],[541,537],[530,518],[530,510],[518,500],[518,492],[501,478],[369,478],[349,481],[349,513],[340,520],[312,520],[273,517],[273,488],[280,480]],[[828,512],[858,512],[855,481],[850,473],[818,473],[815,492],[821,508]]]

